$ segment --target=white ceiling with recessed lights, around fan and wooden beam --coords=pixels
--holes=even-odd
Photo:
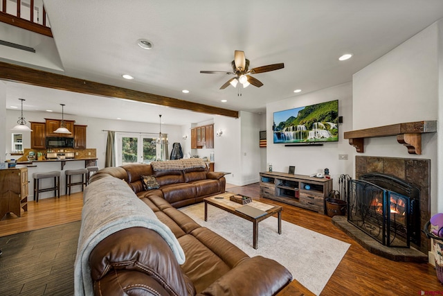
[[[443,18],[441,0],[45,0],[44,4],[60,57],[36,58],[36,54],[35,62],[21,59],[21,64],[56,73],[61,64],[66,76],[248,112],[265,112],[266,103],[297,96],[294,89],[305,94],[350,82],[353,73]],[[137,46],[139,38],[153,42],[153,49]],[[46,39],[42,37],[42,44]],[[17,33],[13,40],[20,40]],[[29,40],[21,38],[24,45],[38,51],[51,47],[35,38],[32,43]],[[232,76],[199,73],[231,71],[235,50],[245,52],[250,68],[284,62],[284,69],[253,75],[264,86],[242,89],[242,96],[237,96],[238,86],[219,89]],[[354,57],[339,62],[343,53]],[[0,53],[0,58],[20,60],[17,54]],[[37,62],[41,59],[46,63]],[[123,79],[124,73],[135,79]],[[21,97],[26,98],[25,110],[56,110],[64,103],[69,114],[109,119],[156,123],[163,113],[165,123],[178,124],[210,118],[194,112],[170,113],[177,110],[143,103],[7,84],[8,108],[19,105]],[[182,89],[190,93],[183,94]],[[222,99],[228,102],[221,103]]]

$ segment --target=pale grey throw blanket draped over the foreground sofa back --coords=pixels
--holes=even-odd
[[[75,258],[75,295],[93,295],[89,255],[107,236],[129,227],[146,227],[159,233],[171,247],[179,264],[185,254],[172,231],[161,223],[123,181],[105,177],[89,184],[84,191],[82,227]]]

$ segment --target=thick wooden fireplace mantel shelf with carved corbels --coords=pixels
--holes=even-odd
[[[365,138],[397,136],[397,141],[408,148],[409,154],[422,154],[422,134],[425,132],[437,132],[437,121],[406,122],[351,130],[345,132],[344,137],[349,139],[350,145],[354,146],[358,153],[365,152]]]

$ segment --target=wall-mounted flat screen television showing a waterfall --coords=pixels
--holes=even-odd
[[[274,112],[274,143],[338,141],[338,100]]]

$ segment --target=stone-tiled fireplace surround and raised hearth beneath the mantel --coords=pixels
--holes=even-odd
[[[395,177],[394,181],[380,182],[379,174],[383,175],[383,179],[384,175],[393,176]],[[374,192],[366,197],[366,200],[370,199],[370,202],[367,202],[364,207],[360,207],[360,211],[365,213],[365,223],[372,224],[368,232],[373,232],[373,234],[376,231],[377,234],[380,232],[381,242],[350,223],[347,216],[334,216],[332,223],[373,254],[394,261],[427,262],[427,254],[431,247],[428,238],[421,232],[421,229],[431,218],[431,160],[357,155],[355,157],[355,180],[359,181],[356,183],[370,182],[374,184],[372,185]],[[400,181],[397,182],[398,180]],[[404,184],[408,185],[401,189]],[[383,194],[388,194],[385,193],[386,191],[394,192],[392,199],[383,199]],[[403,198],[403,196],[407,198]],[[403,202],[405,205],[402,204]],[[383,204],[389,209],[388,215],[385,211],[383,216]],[[352,211],[353,209],[348,213],[352,214]],[[408,218],[406,218],[406,214],[409,214]],[[383,220],[385,221],[384,236]],[[383,237],[385,237],[386,245],[383,245]],[[408,237],[410,247],[407,247]]]

